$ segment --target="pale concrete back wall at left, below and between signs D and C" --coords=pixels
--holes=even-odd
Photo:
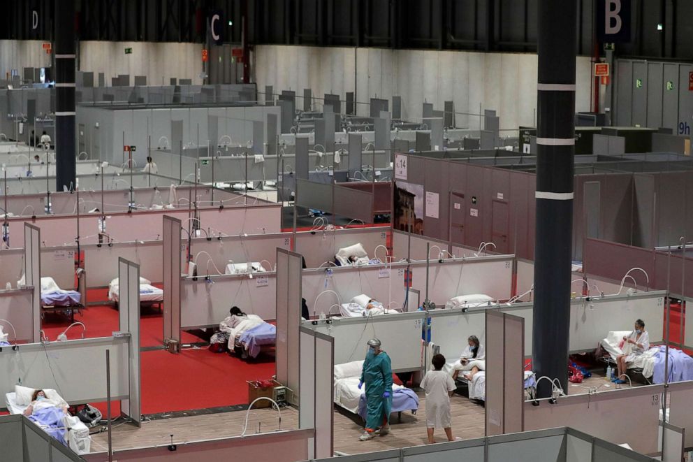
[[[43,41],[0,41],[0,78],[10,69],[23,75],[24,67],[51,65],[52,55],[41,48]],[[202,43],[152,43],[152,42],[80,42],[79,71],[93,71],[94,85],[98,73],[103,72],[105,85],[110,87],[111,78],[129,74],[130,84],[135,75],[145,75],[147,85],[168,85],[170,78],[189,78],[194,85],[202,79]],[[125,48],[132,48],[126,55]]]

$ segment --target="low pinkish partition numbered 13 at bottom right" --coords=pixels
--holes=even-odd
[[[617,445],[628,443],[641,454],[655,454],[663,391],[662,385],[650,385],[562,397],[556,404],[546,399],[538,406],[526,401],[524,429],[570,425]]]

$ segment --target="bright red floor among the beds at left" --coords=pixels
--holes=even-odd
[[[90,301],[105,300],[105,291],[89,291]],[[118,311],[108,305],[89,306],[75,322],[87,326],[85,337],[108,337],[118,329]],[[70,325],[63,315],[47,315],[43,331],[51,341]],[[80,338],[81,326],[74,326],[68,338]],[[163,343],[163,318],[158,309],[143,310],[140,320],[142,347]],[[200,342],[196,335],[184,332],[182,343]],[[212,353],[207,348],[183,349],[180,354],[164,350],[140,353],[142,372],[142,413],[204,409],[248,403],[248,380],[268,379],[275,374],[273,358],[244,361],[226,353]],[[105,403],[92,403],[105,415]],[[112,415],[119,414],[119,404],[112,403]]]

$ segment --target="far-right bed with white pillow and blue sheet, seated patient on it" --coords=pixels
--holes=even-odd
[[[602,360],[616,367],[616,356],[623,354],[620,343],[624,336],[632,331],[610,331],[604,340],[599,342],[607,355]],[[636,377],[641,375],[645,383],[664,383],[664,356],[666,349],[662,345],[652,345],[648,351],[628,363],[628,371]],[[693,380],[693,358],[680,349],[669,347],[669,382]]]

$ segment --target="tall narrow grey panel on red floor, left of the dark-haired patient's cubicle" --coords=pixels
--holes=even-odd
[[[180,219],[163,216],[163,341],[180,345]]]

